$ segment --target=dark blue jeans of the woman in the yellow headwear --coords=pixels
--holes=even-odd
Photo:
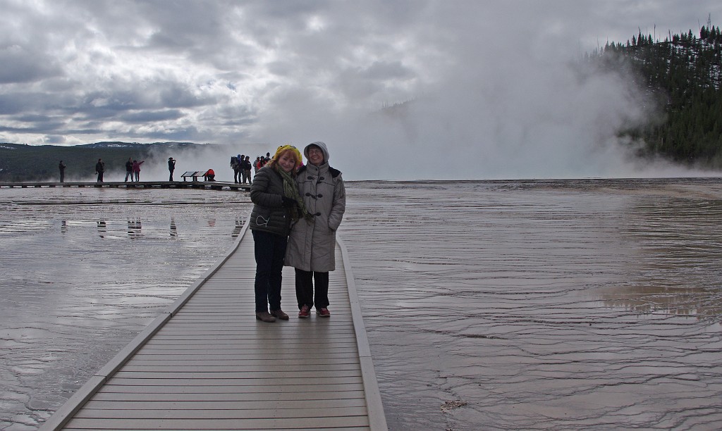
[[[264,231],[253,234],[253,254],[256,257],[256,313],[281,309],[281,282],[283,259],[286,255],[287,236]]]

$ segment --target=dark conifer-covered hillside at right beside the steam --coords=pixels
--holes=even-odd
[[[588,56],[596,66],[625,68],[647,89],[656,120],[622,133],[645,143],[646,155],[662,155],[683,164],[722,168],[722,35],[703,26],[699,35],[633,36],[607,43]]]

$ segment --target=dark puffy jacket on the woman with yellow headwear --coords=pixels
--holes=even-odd
[[[291,218],[283,206],[283,179],[271,166],[264,166],[251,185],[251,225],[253,231],[288,236]]]

